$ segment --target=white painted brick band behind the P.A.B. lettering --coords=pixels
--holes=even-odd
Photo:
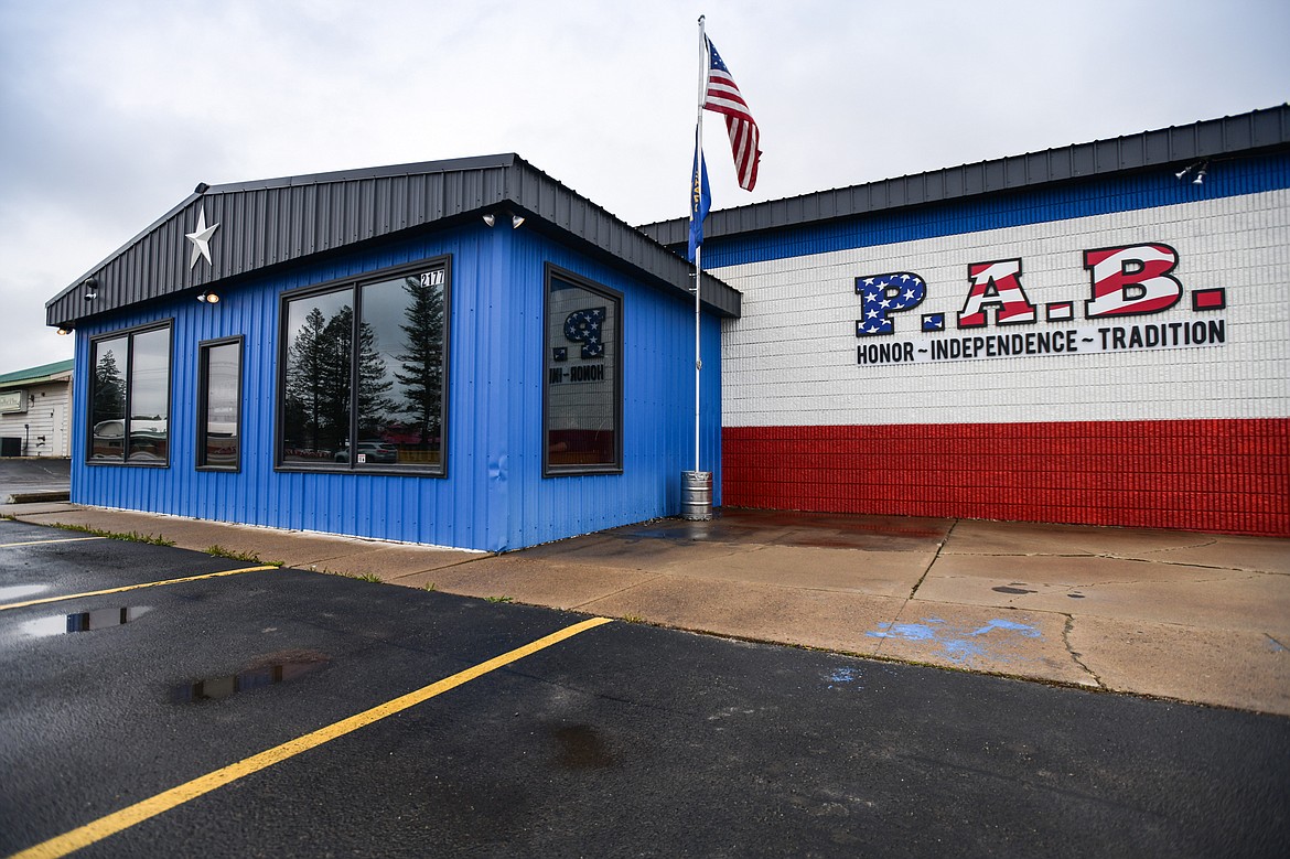
[[[1173,308],[1087,320],[1084,252],[1160,242],[1178,252],[1184,289]],[[968,266],[1022,258],[1033,325],[956,329]],[[928,282],[897,334],[855,337],[855,279],[908,271]],[[1023,227],[716,268],[743,291],[724,324],[724,424],[828,426],[1160,420],[1290,417],[1290,191],[1142,209]],[[1227,308],[1193,312],[1191,293],[1227,289]],[[1047,302],[1075,302],[1075,320],[1044,321]],[[924,313],[946,333],[918,333]],[[902,338],[1055,331],[1069,326],[1226,320],[1227,342],[1041,357],[859,365],[860,343]]]

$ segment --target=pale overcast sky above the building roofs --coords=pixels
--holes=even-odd
[[[0,0],[0,373],[44,304],[219,184],[519,152],[688,213],[697,18],[761,129],[729,208],[1280,104],[1286,0]]]

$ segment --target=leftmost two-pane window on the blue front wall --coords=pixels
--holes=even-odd
[[[170,324],[90,342],[89,462],[170,458]]]

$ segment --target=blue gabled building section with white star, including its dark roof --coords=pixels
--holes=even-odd
[[[72,500],[489,551],[675,513],[691,282],[513,155],[199,186],[49,302]],[[719,468],[739,294],[703,308]]]

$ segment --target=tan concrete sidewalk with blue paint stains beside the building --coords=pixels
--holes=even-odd
[[[0,507],[288,566],[1290,716],[1290,540],[724,511],[486,555],[72,504]]]

